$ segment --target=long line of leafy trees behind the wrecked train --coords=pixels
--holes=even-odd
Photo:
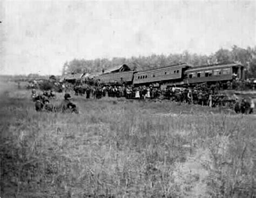
[[[165,56],[164,54],[152,54],[151,56],[139,56],[131,58],[112,58],[110,59],[73,59],[63,65],[63,74],[70,73],[93,73],[107,70],[111,67],[124,63],[135,62],[144,69],[163,67],[178,63],[187,63],[192,66],[207,65],[212,63],[240,62],[246,67],[246,78],[256,78],[256,46],[243,49],[233,46],[232,50],[219,49],[210,56],[184,51]]]

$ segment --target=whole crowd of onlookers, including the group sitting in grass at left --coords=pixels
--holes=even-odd
[[[254,103],[250,98],[242,98],[239,100],[235,95],[229,97],[226,94],[221,94],[220,91],[223,89],[233,89],[234,82],[230,83],[227,81],[226,84],[216,83],[211,86],[203,83],[193,88],[177,88],[176,86],[133,86],[133,85],[100,85],[100,84],[84,84],[77,83],[76,85],[71,84],[58,84],[61,90],[64,91],[66,97],[64,97],[65,105],[61,104],[62,107],[52,107],[49,99],[55,97],[54,91],[45,91],[42,95],[36,95],[35,90],[32,90],[32,99],[36,101],[36,110],[48,110],[48,111],[62,111],[71,110],[71,112],[77,112],[76,105],[67,102],[69,99],[67,95],[75,91],[75,95],[85,95],[86,99],[100,99],[103,97],[124,97],[126,99],[138,99],[138,100],[149,100],[149,99],[167,99],[175,101],[179,105],[181,103],[187,104],[198,104],[202,106],[217,107],[226,106],[233,108],[235,112],[239,113],[253,113]],[[71,96],[70,96],[71,97]]]

